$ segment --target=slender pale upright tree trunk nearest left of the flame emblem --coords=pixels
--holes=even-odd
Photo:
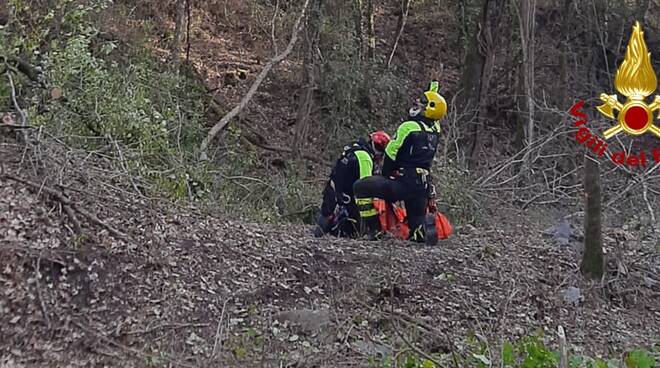
[[[534,18],[536,0],[520,0],[520,34],[523,53],[523,86],[525,92],[526,145],[534,142]],[[530,155],[531,157],[531,155]]]

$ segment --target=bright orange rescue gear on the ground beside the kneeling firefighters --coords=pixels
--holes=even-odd
[[[408,239],[410,228],[408,227],[405,208],[378,198],[374,198],[374,207],[378,211],[378,218],[383,231],[398,239]],[[429,200],[426,213],[434,216],[435,232],[438,240],[447,239],[451,236],[453,232],[451,223],[442,212],[436,209],[433,200]]]

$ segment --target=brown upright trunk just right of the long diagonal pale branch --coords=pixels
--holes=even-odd
[[[303,60],[303,88],[300,107],[298,110],[298,122],[294,134],[293,157],[301,157],[301,149],[307,139],[309,130],[310,114],[314,107],[314,90],[316,90],[316,48],[318,47],[321,17],[321,0],[312,0],[309,17],[307,18],[305,36],[305,59]]]

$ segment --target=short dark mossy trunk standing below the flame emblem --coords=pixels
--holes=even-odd
[[[601,197],[599,164],[588,154],[584,156],[584,252],[580,271],[594,279],[603,276],[603,240],[601,236]]]

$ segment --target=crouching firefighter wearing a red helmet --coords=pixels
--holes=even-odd
[[[389,141],[387,133],[376,131],[369,135],[369,139],[359,138],[344,147],[323,190],[314,236],[321,237],[326,233],[341,237],[359,235],[360,213],[353,195],[353,183],[371,176],[380,166]]]

